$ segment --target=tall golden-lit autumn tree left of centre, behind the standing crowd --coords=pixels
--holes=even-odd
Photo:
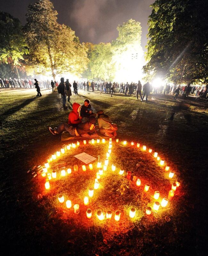
[[[28,6],[25,35],[30,49],[27,71],[35,68],[37,74],[71,72],[80,74],[87,66],[84,44],[71,28],[57,22],[58,13],[49,0],[39,0]]]

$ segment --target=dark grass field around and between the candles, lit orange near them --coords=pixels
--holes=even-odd
[[[54,200],[60,191],[44,195],[40,178],[27,174],[29,167],[45,163],[53,152],[66,144],[60,136],[53,136],[48,126],[67,121],[69,110],[63,110],[57,93],[49,90],[41,93],[43,96],[37,98],[34,89],[0,92],[0,241],[4,255],[207,255],[206,102],[192,97],[173,101],[170,95],[150,95],[149,102],[145,103],[136,97],[113,95],[111,98],[100,92],[83,91],[71,97],[71,102],[67,103],[69,110],[73,102],[81,104],[84,99],[90,99],[94,111],[105,110],[118,124],[119,141],[126,139],[153,148],[176,170],[181,180],[180,194],[167,212],[151,221],[145,216],[139,218],[140,214],[134,222],[125,225],[121,222],[120,228],[116,229],[113,224],[114,230],[109,232],[109,225],[80,225],[80,219],[74,215],[70,218]],[[98,152],[100,155],[106,152],[104,145],[93,149],[87,147],[95,157]],[[142,151],[138,155],[135,150],[130,150],[129,146],[116,150],[112,161],[120,161],[120,167],[132,171],[135,162],[140,161],[142,168],[135,174],[152,180],[153,188],[157,181],[166,184],[168,181],[158,171],[159,167],[154,169],[151,159],[147,159]],[[75,152],[82,152],[82,148]],[[73,154],[69,153],[63,160],[69,159],[71,164],[76,162],[68,156]],[[60,190],[65,189],[67,193],[71,184],[87,186],[91,174],[86,175],[89,177],[73,177],[70,184],[60,181]],[[138,204],[139,210],[146,206],[142,202],[149,202],[148,197],[143,198],[142,193],[133,188],[122,198],[115,188],[123,180],[113,176],[108,178],[114,185],[110,188],[108,180],[103,178],[108,194],[101,193],[101,198],[93,204],[95,209],[102,205],[104,210],[107,209],[105,202],[110,196],[113,209],[116,204],[121,207],[126,203],[126,211],[131,204]],[[132,183],[127,185],[131,187]],[[82,189],[84,191],[84,188],[80,191]],[[41,200],[38,200],[38,194],[43,196]],[[171,219],[169,222],[164,220],[166,215]]]

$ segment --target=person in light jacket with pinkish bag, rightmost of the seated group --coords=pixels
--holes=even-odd
[[[99,132],[108,137],[115,137],[117,135],[117,125],[112,124],[110,117],[104,114],[103,110],[99,110],[97,114]]]

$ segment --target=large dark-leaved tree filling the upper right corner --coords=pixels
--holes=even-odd
[[[175,83],[206,82],[206,1],[157,0],[151,7],[144,73]]]

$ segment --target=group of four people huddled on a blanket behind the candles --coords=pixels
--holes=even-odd
[[[97,125],[95,125],[96,121]],[[92,112],[92,106],[88,99],[84,100],[82,106],[76,102],[73,103],[72,111],[68,115],[68,123],[61,123],[54,129],[49,127],[49,131],[53,135],[67,131],[72,137],[84,138],[97,137],[98,132],[101,135],[115,138],[116,130],[117,125],[112,123],[110,117],[103,110],[99,110],[97,113]]]

